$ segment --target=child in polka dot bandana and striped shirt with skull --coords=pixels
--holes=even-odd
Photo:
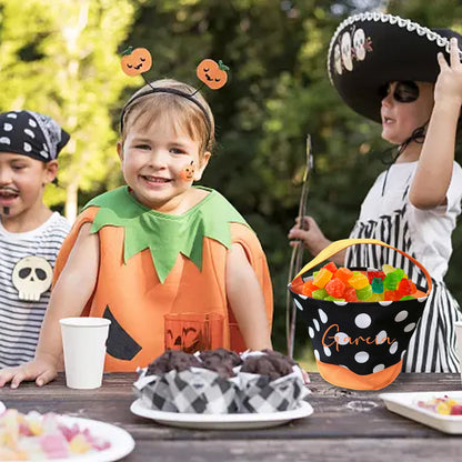
[[[33,359],[70,224],[43,203],[69,134],[32,111],[0,113],[0,366]]]

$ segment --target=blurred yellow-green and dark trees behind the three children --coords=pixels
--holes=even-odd
[[[143,81],[120,71],[121,52],[145,47],[149,79],[195,86],[198,63],[222,59],[229,83],[204,91],[218,147],[202,183],[221,191],[261,239],[274,285],[273,342],[285,351],[287,233],[298,213],[307,133],[315,159],[309,213],[330,239],[349,234],[383,169],[380,127],[341,102],[325,63],[341,20],[374,9],[462,33],[458,0],[0,0],[0,110],[49,113],[70,131],[47,201],[73,220],[89,199],[122,183],[118,118]],[[446,282],[462,301],[460,228],[453,244]],[[301,322],[297,340],[301,355]]]

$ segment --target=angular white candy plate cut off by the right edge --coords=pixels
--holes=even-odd
[[[445,433],[462,433],[462,415],[442,415],[429,409],[420,408],[418,401],[450,396],[462,401],[462,391],[425,391],[412,393],[382,393],[379,395],[389,411],[432,426]]]

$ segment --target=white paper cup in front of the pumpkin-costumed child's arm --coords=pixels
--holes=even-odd
[[[98,389],[102,383],[111,321],[104,318],[64,318],[59,322],[66,384],[71,389]]]

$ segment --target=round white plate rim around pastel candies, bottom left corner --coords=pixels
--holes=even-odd
[[[91,435],[109,441],[111,446],[91,454],[76,455],[67,459],[53,459],[53,462],[113,462],[133,451],[133,438],[120,426],[97,420],[71,418],[68,415],[60,415],[59,420],[68,426],[77,423],[81,431],[88,429]]]

